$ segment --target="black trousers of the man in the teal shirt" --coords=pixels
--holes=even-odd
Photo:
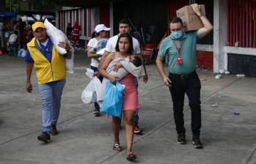
[[[191,72],[189,75],[176,75],[169,73],[169,79],[172,81],[172,86],[169,87],[169,91],[172,94],[173,113],[177,133],[186,133],[183,119],[184,96],[186,93],[189,98],[189,107],[191,108],[191,130],[193,135],[200,135],[201,83],[197,72]]]

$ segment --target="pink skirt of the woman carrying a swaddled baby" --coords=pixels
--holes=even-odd
[[[120,80],[120,83],[125,85],[125,91],[122,94],[122,110],[136,111],[139,108],[138,92],[135,85],[135,77],[129,73]]]

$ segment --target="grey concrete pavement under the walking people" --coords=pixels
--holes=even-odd
[[[59,118],[59,135],[51,143],[37,141],[40,134],[40,96],[33,72],[33,92],[25,91],[25,63],[0,56],[0,163],[80,164],[130,163],[125,150],[112,152],[111,119],[95,117],[92,105],[81,101],[89,82],[84,75],[89,59],[77,53],[75,73],[67,76]],[[139,83],[140,126],[134,138],[135,163],[256,163],[256,78],[224,75],[215,79],[198,70],[202,83],[202,135],[204,149],[191,144],[191,113],[185,103],[186,145],[178,145],[169,89],[155,64],[147,65],[148,83]],[[238,113],[235,115],[234,113]],[[240,114],[240,115],[239,115]],[[125,130],[120,132],[125,147]]]

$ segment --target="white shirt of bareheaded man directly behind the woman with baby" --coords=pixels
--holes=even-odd
[[[116,51],[116,45],[117,45],[118,35],[115,35],[114,37],[109,38],[108,42],[106,43],[106,51],[109,53]],[[140,47],[139,47],[139,41],[136,40],[136,38],[133,37],[133,47],[134,47],[134,53],[138,54],[141,53]]]

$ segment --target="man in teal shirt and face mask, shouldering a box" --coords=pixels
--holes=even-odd
[[[186,143],[186,130],[183,119],[184,96],[186,93],[189,97],[189,107],[191,108],[192,141],[195,148],[201,149],[201,83],[196,72],[197,39],[205,37],[213,29],[213,26],[205,15],[200,12],[198,4],[191,4],[191,7],[202,20],[203,27],[197,31],[184,32],[182,20],[178,17],[173,18],[169,26],[172,33],[161,43],[156,65],[164,85],[169,86],[169,91],[172,95],[178,143]],[[164,72],[163,59],[165,56],[168,56],[169,59],[169,76]]]

